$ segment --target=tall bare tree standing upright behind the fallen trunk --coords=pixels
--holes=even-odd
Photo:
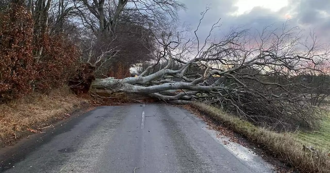
[[[123,73],[120,71],[129,75],[132,64],[149,60],[149,53],[153,51],[153,35],[157,35],[169,19],[176,20],[177,11],[185,8],[176,0],[74,0],[73,4],[70,15],[78,18],[78,23],[87,31],[83,35],[81,49],[94,52],[94,59],[98,57],[100,60],[93,64],[97,65],[98,77],[118,76]],[[94,42],[94,46],[89,48],[86,42]],[[89,53],[83,53],[82,59],[88,60]]]

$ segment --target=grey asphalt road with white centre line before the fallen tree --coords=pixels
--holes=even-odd
[[[216,140],[187,110],[161,104],[102,106],[21,147],[5,173],[265,173]],[[22,145],[24,146],[24,145]],[[20,152],[21,150],[21,152]],[[2,157],[3,159],[4,157]],[[10,158],[7,158],[10,160]]]

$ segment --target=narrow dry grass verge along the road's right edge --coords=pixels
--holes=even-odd
[[[311,152],[303,148],[302,141],[288,133],[277,133],[256,127],[238,117],[228,115],[222,110],[204,103],[192,103],[200,112],[206,113],[216,121],[260,144],[280,159],[302,172],[330,173],[330,157],[325,152]]]

